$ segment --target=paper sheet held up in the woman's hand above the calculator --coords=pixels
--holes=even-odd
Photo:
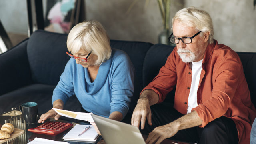
[[[94,120],[92,119],[92,112],[91,113],[85,113],[85,112],[72,112],[72,111],[68,111],[68,110],[60,110],[58,108],[52,108],[53,110],[55,110],[55,112],[57,112],[59,115],[61,116],[66,116],[68,118],[74,118],[74,119],[78,119],[78,120],[85,120],[88,122],[94,122]]]

